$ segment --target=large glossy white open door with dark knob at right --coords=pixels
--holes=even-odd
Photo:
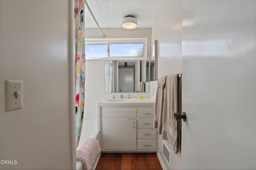
[[[256,169],[256,0],[182,1],[182,169]]]

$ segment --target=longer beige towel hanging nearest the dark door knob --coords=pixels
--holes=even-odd
[[[174,113],[181,111],[180,79],[178,74],[166,77],[162,112],[162,139],[169,141],[175,153],[180,150],[181,123],[174,119]]]

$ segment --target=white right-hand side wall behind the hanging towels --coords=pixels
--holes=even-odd
[[[152,40],[158,40],[158,78],[182,72],[182,1],[164,0],[152,27]],[[151,97],[156,93],[156,82],[151,82]],[[158,138],[158,149],[162,154],[162,136]],[[171,152],[171,169],[180,169],[181,153]]]

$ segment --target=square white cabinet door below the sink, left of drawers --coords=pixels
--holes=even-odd
[[[136,119],[103,119],[103,149],[136,150]]]

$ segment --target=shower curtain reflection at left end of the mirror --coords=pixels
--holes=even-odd
[[[113,92],[113,87],[114,87],[114,61],[109,61],[107,65],[107,76],[105,79],[106,82],[106,88],[105,92],[106,93],[112,93]]]

